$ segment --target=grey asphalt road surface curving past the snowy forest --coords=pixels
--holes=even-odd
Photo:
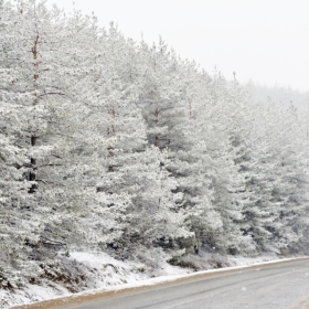
[[[300,309],[309,298],[309,260],[216,274],[194,281],[70,306],[74,309]],[[306,302],[306,303],[305,303]],[[302,305],[301,305],[302,303]]]

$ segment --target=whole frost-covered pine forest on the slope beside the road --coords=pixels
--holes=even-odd
[[[308,254],[300,100],[95,15],[0,0],[0,290],[86,289],[74,252],[141,273]]]

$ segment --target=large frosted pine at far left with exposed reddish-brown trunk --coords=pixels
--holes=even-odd
[[[23,265],[17,270],[30,270],[24,277],[35,277],[55,264],[53,247],[87,238],[72,216],[83,214],[95,195],[95,179],[102,174],[94,147],[99,138],[85,129],[89,111],[74,90],[86,72],[79,65],[84,50],[78,39],[85,29],[94,30],[87,19],[74,15],[68,21],[58,9],[49,11],[44,1],[18,1],[3,8],[3,20],[10,10],[11,22],[3,33],[1,63],[11,72],[11,81],[4,88],[1,129],[23,154],[18,167],[22,178],[14,179],[26,183],[26,200],[31,199],[20,212],[28,224],[19,223],[17,259],[35,268]],[[40,259],[50,259],[50,266],[39,267]]]

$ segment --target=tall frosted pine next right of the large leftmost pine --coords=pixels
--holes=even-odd
[[[174,212],[179,199],[171,193],[174,181],[160,164],[166,154],[147,146],[145,122],[136,105],[137,86],[131,84],[134,62],[127,58],[129,47],[114,25],[100,49],[99,86],[90,92],[107,147],[100,148],[105,172],[97,187],[96,212],[106,219],[97,220],[104,231],[102,244],[124,257],[139,246],[151,247],[161,238],[189,233],[182,228],[181,214]]]

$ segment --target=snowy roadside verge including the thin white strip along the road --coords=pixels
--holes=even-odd
[[[207,269],[193,273],[192,269],[171,266],[168,263],[160,262],[154,271],[146,269],[146,263],[119,262],[106,254],[90,254],[75,252],[71,254],[72,258],[83,263],[89,269],[85,274],[86,289],[72,294],[60,283],[51,280],[42,281],[42,285],[29,285],[21,290],[9,291],[0,290],[0,308],[11,308],[12,306],[24,306],[38,301],[61,299],[75,299],[82,296],[92,296],[107,291],[121,291],[131,288],[140,288],[173,281],[181,278],[190,278],[196,275],[216,274],[220,271],[242,269],[252,266],[274,264],[278,262],[288,262],[296,258],[274,259],[274,256],[262,256],[256,258],[232,257],[227,258],[231,267],[219,269]],[[147,260],[147,263],[151,263]],[[94,273],[95,271],[95,273]],[[24,307],[25,308],[25,307]]]

